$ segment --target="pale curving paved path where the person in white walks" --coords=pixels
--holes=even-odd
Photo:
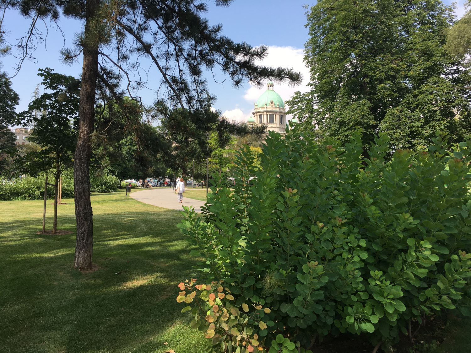
[[[182,206],[193,206],[196,212],[201,212],[204,201],[189,199],[183,194],[183,203],[177,201],[177,194],[169,188],[155,188],[153,190],[141,190],[131,193],[130,196],[137,201],[148,203],[149,205],[163,207],[164,209],[178,209],[183,211]]]

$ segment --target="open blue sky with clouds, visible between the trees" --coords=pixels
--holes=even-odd
[[[444,1],[450,4],[451,1]],[[235,0],[228,8],[216,7],[210,2],[210,9],[206,16],[211,24],[223,24],[223,34],[235,41],[246,41],[252,46],[265,44],[269,46],[268,57],[263,64],[270,66],[289,66],[301,71],[305,78],[303,84],[297,88],[288,87],[286,84],[275,85],[275,90],[284,100],[289,99],[296,90],[305,91],[305,84],[309,81],[309,71],[302,64],[302,49],[308,39],[308,30],[304,27],[306,23],[304,4],[313,5],[314,2],[306,0]],[[463,0],[458,1],[457,15],[463,14]],[[14,43],[15,39],[24,35],[28,28],[28,21],[16,12],[9,12],[5,19],[8,28],[8,41]],[[79,77],[81,73],[81,62],[73,66],[61,64],[59,50],[71,47],[75,32],[81,30],[79,21],[61,18],[59,20],[65,41],[57,28],[49,28],[47,40],[40,44],[34,56],[36,62],[25,61],[18,74],[12,78],[13,88],[20,96],[20,105],[17,111],[27,107],[32,92],[36,85],[41,82],[37,76],[38,69],[44,67],[53,68],[56,72]],[[13,56],[1,58],[2,70],[12,76],[15,72],[13,67],[17,59]],[[150,75],[153,76],[151,69]],[[230,119],[245,120],[252,112],[253,103],[265,88],[258,89],[245,83],[242,87],[235,89],[229,80],[222,84],[216,83],[212,76],[208,76],[208,83],[212,93],[218,97],[214,107],[221,110]],[[223,81],[225,77],[217,75],[217,81]],[[153,82],[149,80],[149,90],[141,93],[145,104],[152,104],[160,77]]]

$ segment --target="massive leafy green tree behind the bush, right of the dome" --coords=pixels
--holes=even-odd
[[[439,0],[320,0],[310,8],[305,63],[312,90],[290,112],[343,143],[363,128],[395,148],[427,145],[437,130],[471,132],[470,74],[446,48],[451,8]]]

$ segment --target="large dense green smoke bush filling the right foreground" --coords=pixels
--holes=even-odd
[[[234,297],[215,298],[219,308],[269,309],[263,325],[253,315],[244,325],[270,353],[280,333],[308,348],[313,337],[348,331],[386,348],[409,320],[470,314],[471,141],[447,146],[443,137],[392,153],[380,135],[366,159],[361,131],[344,147],[296,128],[270,133],[260,170],[246,148],[234,189],[211,187],[206,217],[185,209],[179,227],[204,258],[199,281],[223,283]],[[206,337],[219,330],[213,351],[253,351],[238,346],[246,328],[237,317],[210,324],[204,310],[193,308],[192,327]]]

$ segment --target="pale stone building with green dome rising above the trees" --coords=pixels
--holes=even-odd
[[[268,125],[268,131],[284,134],[286,126],[286,110],[281,96],[273,90],[273,82],[268,81],[267,90],[255,103],[254,111],[247,120],[247,124],[257,126]]]

